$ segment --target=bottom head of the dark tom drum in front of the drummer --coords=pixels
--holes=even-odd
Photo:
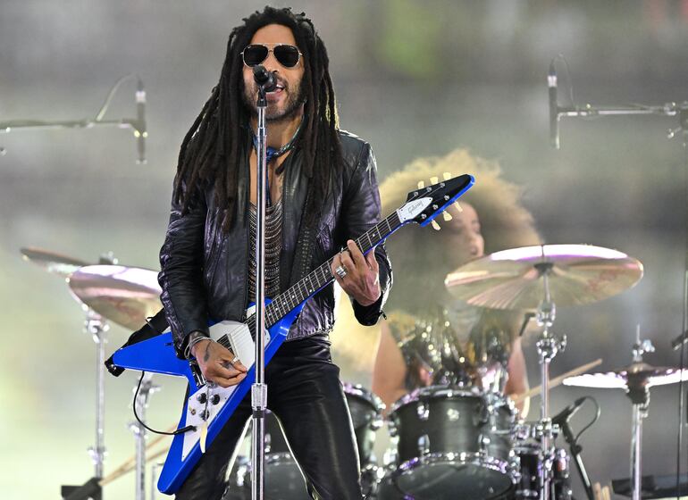
[[[415,500],[483,500],[498,498],[512,487],[510,477],[486,464],[437,460],[395,472],[399,492]]]

